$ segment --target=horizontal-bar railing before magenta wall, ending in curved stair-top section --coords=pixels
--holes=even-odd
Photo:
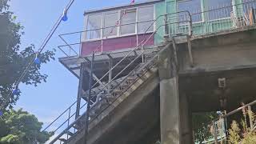
[[[127,24],[122,24],[122,25],[116,25],[116,26],[108,26],[104,28],[98,28],[94,30],[82,30],[78,32],[73,32],[73,33],[67,33],[67,34],[59,34],[59,38],[62,39],[62,41],[65,43],[65,45],[58,46],[58,49],[63,52],[67,57],[70,56],[81,56],[82,53],[82,44],[87,43],[87,42],[98,42],[98,46],[95,46],[94,49],[100,49],[98,50],[98,53],[101,53],[104,51],[103,47],[103,41],[107,39],[112,39],[112,38],[122,38],[126,36],[136,36],[136,46],[135,48],[139,47],[142,45],[143,41],[146,40],[146,34],[152,34],[157,28],[158,24],[163,25],[166,23],[170,23],[170,25],[166,25],[165,28],[162,29],[163,34],[180,34],[180,33],[190,33],[191,28],[190,26],[190,13],[188,11],[179,11],[177,13],[173,14],[162,14],[159,15],[158,18],[155,18],[153,21],[143,21],[143,22],[131,22]],[[143,31],[142,33],[136,33],[136,34],[126,34],[126,35],[116,35],[116,36],[106,36],[102,38],[94,38],[94,39],[86,39],[86,34],[95,30],[109,30],[111,28],[117,28],[118,26],[132,26],[134,24],[142,24],[145,22],[151,22],[150,26],[146,27],[146,30]],[[176,22],[176,23],[174,23]],[[166,31],[166,27],[169,27],[168,32]],[[138,36],[142,35],[143,39],[140,42]],[[190,35],[190,34],[189,34]],[[163,36],[163,35],[162,35]],[[64,38],[65,37],[65,38]],[[75,42],[67,42],[66,39],[70,39],[70,41],[75,41]],[[77,42],[77,40],[79,40]],[[130,47],[132,48],[132,47]],[[90,54],[89,54],[90,55]]]

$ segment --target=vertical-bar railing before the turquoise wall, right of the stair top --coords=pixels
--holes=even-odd
[[[208,8],[191,14],[194,35],[213,34],[224,30],[234,30],[253,26],[256,22],[256,1],[243,0],[241,3]]]

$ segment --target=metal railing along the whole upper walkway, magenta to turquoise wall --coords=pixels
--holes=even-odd
[[[256,1],[255,0],[243,0],[242,3],[237,3],[232,5],[223,5],[214,7],[208,7],[207,10],[203,10],[201,12],[192,13],[190,15],[192,26],[188,26],[190,23],[184,22],[184,19],[188,17],[186,14],[182,14],[182,12],[174,13],[174,14],[165,14],[166,18],[162,20],[162,23],[165,22],[173,22],[174,18],[181,23],[179,25],[171,24],[166,25],[163,34],[178,34],[179,32],[188,30],[191,28],[193,35],[204,35],[204,34],[212,34],[223,30],[234,30],[244,26],[253,26],[256,23]],[[178,16],[177,16],[178,14]],[[65,43],[65,45],[58,46],[60,50],[67,57],[70,56],[80,56],[82,52],[82,43],[86,42],[98,42],[99,52],[104,51],[103,41],[111,38],[122,38],[127,35],[119,35],[116,31],[116,34],[111,36],[105,36],[100,38],[86,39],[86,35],[88,33],[92,33],[97,30],[111,30],[117,29],[118,26],[134,26],[135,24],[142,24],[145,22],[152,22],[155,26],[157,26],[156,22],[161,19],[161,17],[165,17],[164,15],[158,16],[154,21],[144,21],[144,22],[131,22],[127,24],[118,24],[116,26],[108,26],[104,28],[98,28],[94,30],[82,30],[74,33],[68,34],[60,34],[59,37]],[[154,26],[150,26],[150,30],[147,30],[147,33],[152,33],[154,31]],[[138,34],[130,34],[136,36],[137,46],[141,43],[138,40]],[[129,35],[129,34],[128,34]],[[64,38],[65,37],[65,38]],[[71,38],[72,37],[72,38]],[[71,39],[74,41],[79,40],[78,42],[67,42],[66,39]]]

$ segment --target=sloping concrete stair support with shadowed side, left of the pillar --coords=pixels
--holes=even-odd
[[[153,74],[120,105],[90,129],[87,144],[129,144],[138,142],[145,134],[158,126],[158,77]],[[81,132],[69,144],[80,144]]]

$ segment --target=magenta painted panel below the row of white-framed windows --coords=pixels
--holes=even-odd
[[[138,35],[138,44],[144,39],[150,37],[151,34],[146,34],[145,38],[143,34]],[[146,42],[145,46],[154,45],[154,36]],[[93,50],[96,50],[101,46],[101,41],[94,42],[83,42],[82,43],[82,55],[91,54]],[[136,35],[120,37],[120,38],[109,38],[103,40],[102,51],[113,51],[113,50],[122,50],[127,48],[133,48],[137,46],[137,37]],[[101,49],[100,49],[101,50]]]

